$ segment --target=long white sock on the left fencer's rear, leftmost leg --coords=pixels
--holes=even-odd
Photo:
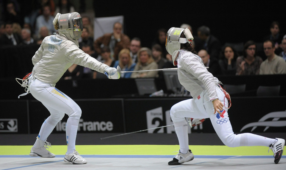
[[[58,121],[54,120],[51,116],[49,116],[42,124],[41,130],[37,138],[42,141],[45,141],[55,129],[57,123]]]

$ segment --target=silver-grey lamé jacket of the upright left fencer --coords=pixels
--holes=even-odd
[[[41,82],[55,86],[66,70],[77,64],[103,73],[108,65],[97,61],[78,48],[77,40],[63,35],[50,35],[43,39],[41,47],[32,57],[32,75]]]

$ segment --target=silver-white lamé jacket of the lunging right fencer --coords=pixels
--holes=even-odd
[[[198,55],[184,49],[179,50],[178,78],[193,98],[197,98],[204,90],[210,101],[218,98],[215,88],[220,83],[219,80],[206,69]]]

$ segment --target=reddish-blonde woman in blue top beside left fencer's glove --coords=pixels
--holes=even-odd
[[[135,68],[135,63],[133,62],[132,58],[130,57],[130,51],[129,49],[122,49],[119,54],[118,54],[118,59],[117,61],[115,61],[114,66],[115,68],[117,68],[117,66],[119,65],[119,67],[121,68],[121,71],[133,71]],[[132,73],[121,73],[122,78],[130,78]]]

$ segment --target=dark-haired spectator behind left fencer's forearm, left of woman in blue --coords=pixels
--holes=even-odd
[[[102,60],[101,60],[102,63],[108,65],[109,67],[114,66],[115,60],[113,60],[111,58],[111,52],[110,52],[110,48],[108,46],[103,46],[101,48],[100,55],[101,55],[101,58],[102,58]],[[98,75],[100,77],[98,77]],[[94,71],[93,72],[93,79],[96,79],[96,78],[107,78],[107,76],[104,75],[104,74],[97,74],[97,71]]]

